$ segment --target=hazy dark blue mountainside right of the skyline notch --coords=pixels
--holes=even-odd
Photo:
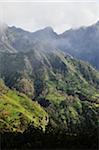
[[[99,22],[89,27],[68,30],[60,38],[62,44],[59,47],[63,51],[99,69]]]

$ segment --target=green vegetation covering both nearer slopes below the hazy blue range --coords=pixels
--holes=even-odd
[[[99,124],[98,71],[56,51],[1,55],[5,60],[0,60],[0,74],[6,86],[0,82],[0,132],[23,136],[31,126],[38,137],[50,132],[50,123],[51,135],[59,131],[92,136]]]

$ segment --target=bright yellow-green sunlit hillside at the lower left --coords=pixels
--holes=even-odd
[[[30,124],[45,130],[47,123],[48,115],[37,102],[0,80],[0,132],[23,132]]]

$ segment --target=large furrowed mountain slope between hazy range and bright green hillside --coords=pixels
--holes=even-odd
[[[98,127],[99,72],[59,50],[35,47],[27,53],[1,53],[1,78],[44,107],[53,126],[68,132]]]

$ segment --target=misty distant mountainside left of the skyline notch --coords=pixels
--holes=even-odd
[[[51,27],[46,27],[36,32],[24,31],[21,28],[6,27],[0,35],[0,52],[27,52],[39,43],[51,45],[58,36]],[[53,45],[54,46],[54,45]]]

